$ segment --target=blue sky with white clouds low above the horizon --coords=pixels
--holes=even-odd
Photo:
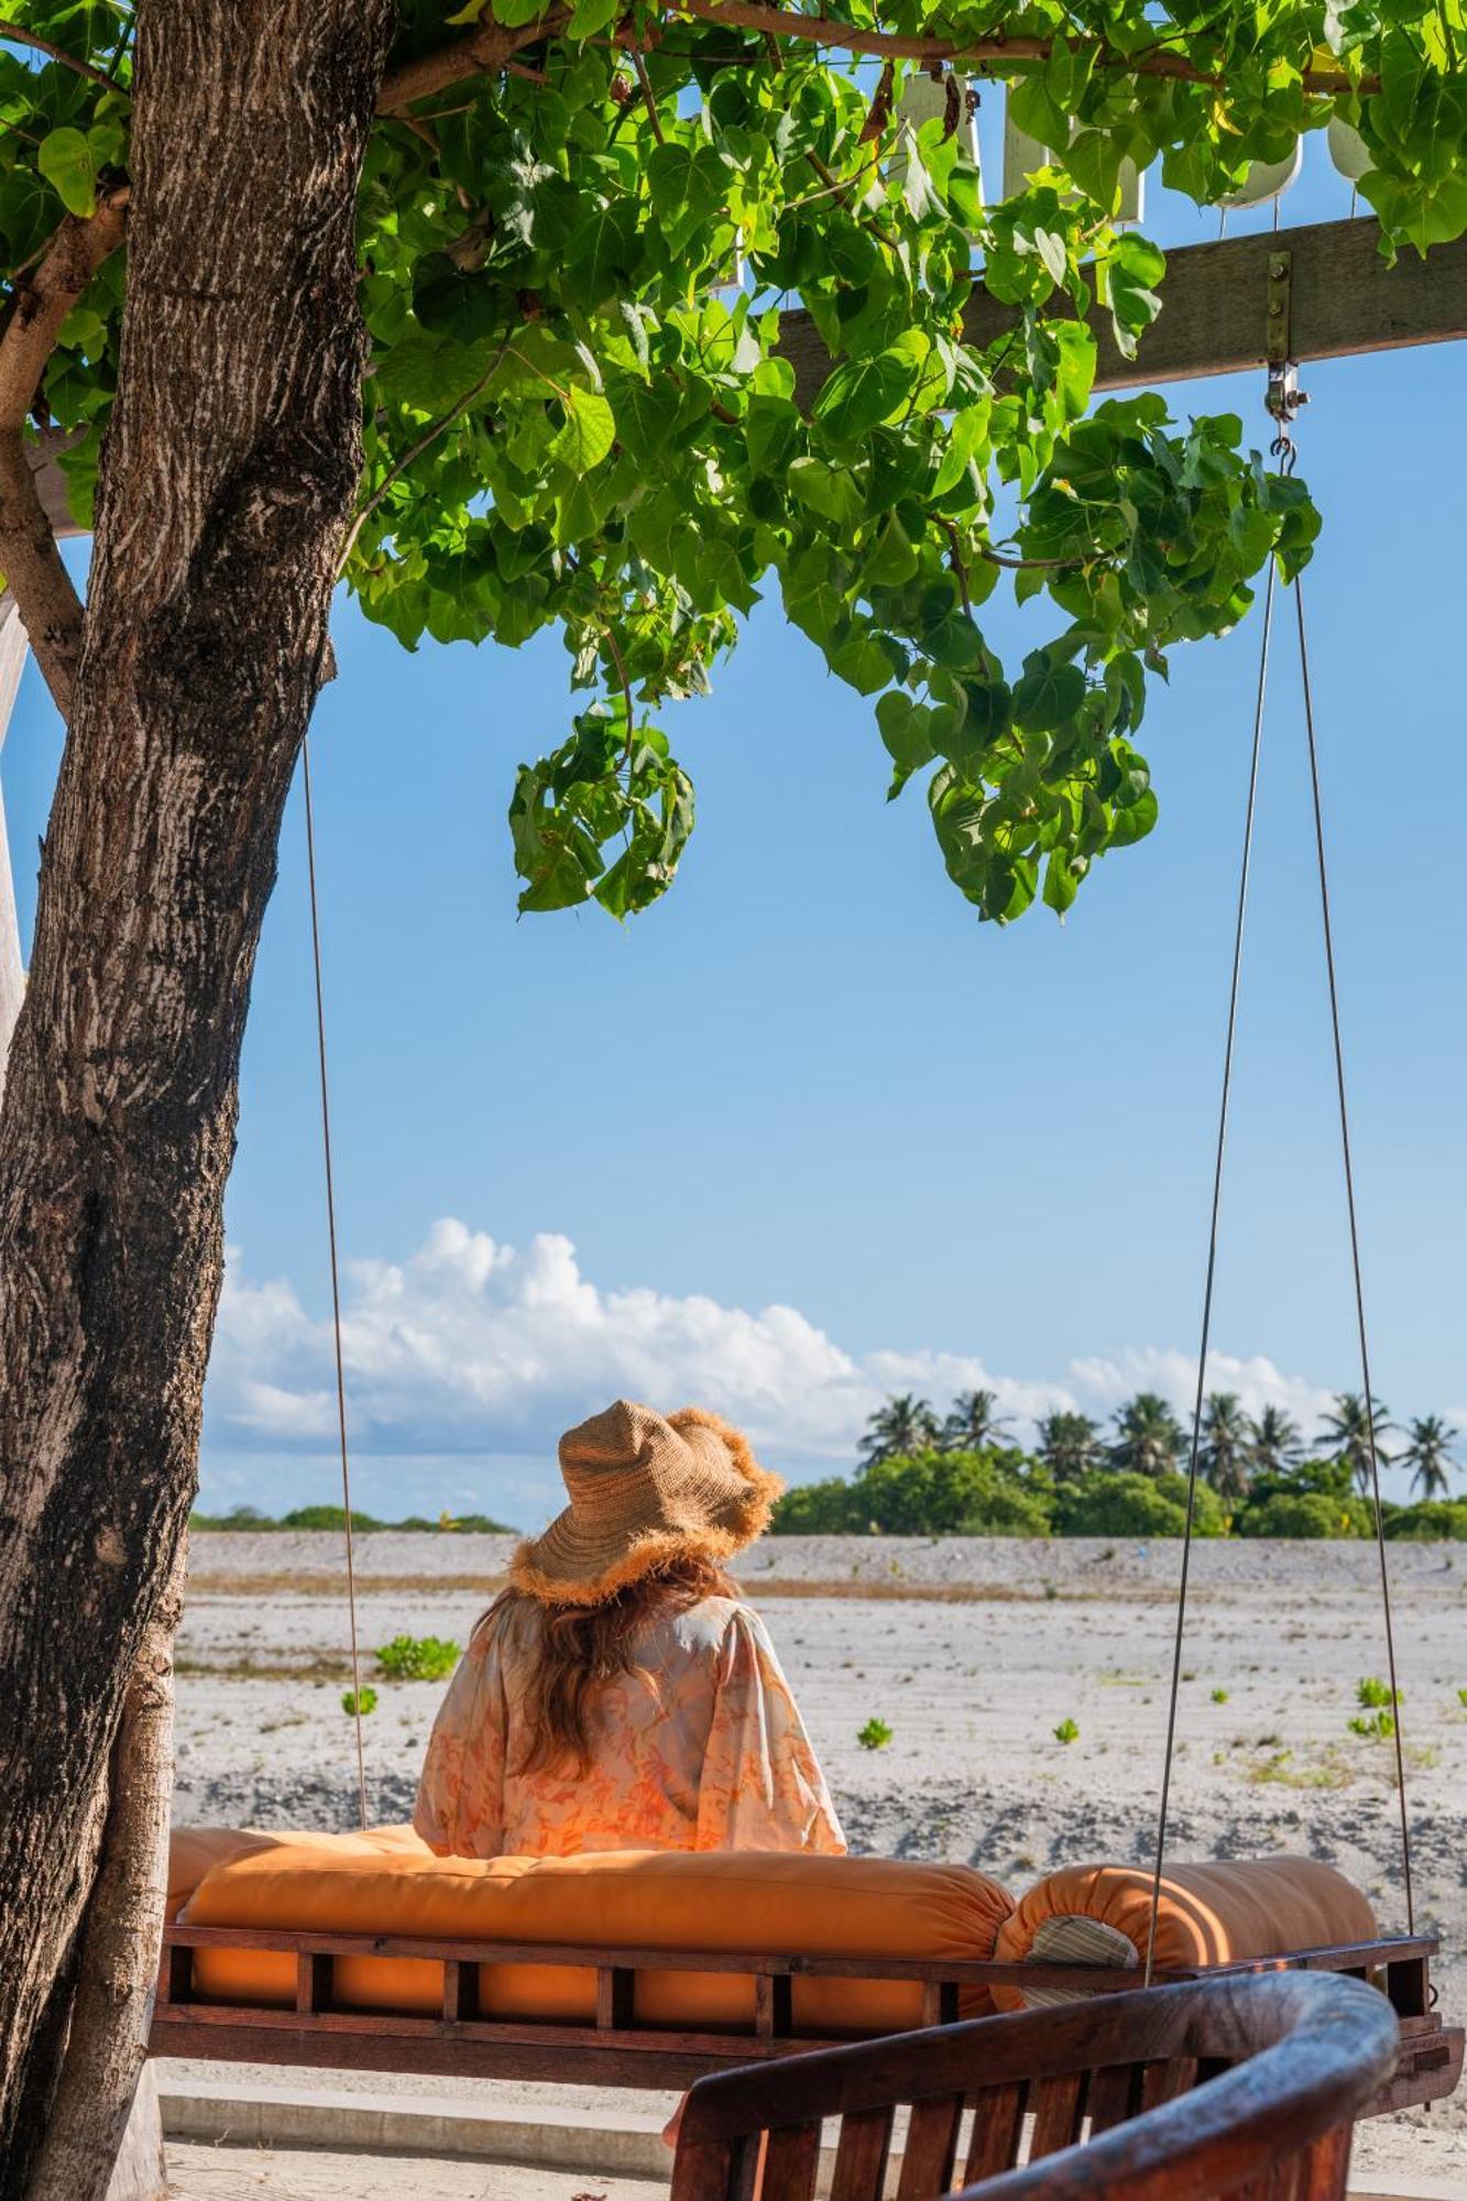
[[[1339,185],[1306,178],[1284,209],[1344,211]],[[1200,218],[1163,205],[1148,227],[1174,242]],[[1306,383],[1377,1389],[1399,1415],[1467,1413],[1460,357]],[[1260,398],[1249,376],[1174,407],[1238,409],[1262,442]],[[1018,636],[998,599],[985,616]],[[1035,909],[1007,933],[949,887],[919,790],[888,808],[870,704],[773,605],[714,698],[670,718],[698,830],[626,931],[515,918],[504,808],[515,764],[562,740],[562,645],[408,656],[346,601],[335,636],[313,746],[363,1503],[529,1523],[557,1431],[617,1389],[745,1415],[795,1475],[846,1466],[896,1384],[991,1380],[1020,1417],[1185,1393],[1256,621],[1178,651],[1154,696],[1154,836],[1064,927]],[[57,742],[29,671],[4,751],[22,927]],[[1214,1340],[1220,1380],[1308,1417],[1357,1362],[1306,801],[1280,647]],[[209,1503],[333,1488],[311,1019],[293,803],[244,1050]]]

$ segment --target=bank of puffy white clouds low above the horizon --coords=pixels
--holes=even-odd
[[[1104,1420],[1132,1391],[1192,1406],[1194,1362],[1172,1347],[1075,1360],[1055,1380],[996,1373],[976,1356],[844,1351],[797,1307],[758,1312],[645,1285],[604,1290],[566,1237],[524,1250],[443,1219],[408,1261],[359,1261],[346,1274],[346,1380],[352,1442],[394,1459],[555,1457],[555,1437],[615,1395],[696,1400],[738,1420],[782,1466],[844,1468],[866,1417],[890,1391],[945,1404],[987,1387],[1020,1431],[1055,1406]],[[1249,1411],[1284,1406],[1306,1431],[1326,1393],[1271,1360],[1216,1354],[1209,1389]],[[209,1461],[227,1455],[324,1455],[335,1426],[330,1325],[284,1281],[253,1283],[229,1257],[209,1369]],[[553,1468],[551,1468],[553,1472]]]

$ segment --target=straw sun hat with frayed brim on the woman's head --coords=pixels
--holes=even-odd
[[[546,1605],[601,1605],[676,1558],[729,1558],[769,1525],[784,1483],[716,1413],[665,1420],[619,1398],[559,1439],[570,1503],[509,1569]]]

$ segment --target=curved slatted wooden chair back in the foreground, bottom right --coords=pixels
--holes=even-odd
[[[1269,2201],[1335,2201],[1350,2122],[1397,2049],[1386,1996],[1357,1981],[1317,1972],[1216,1979],[720,2073],[692,2089],[683,2144],[692,2168],[694,2148],[716,2161],[722,2146],[731,2161],[751,2133],[767,2131],[760,2201],[811,2201],[819,2120],[859,2120],[846,2150],[850,2192],[839,2201],[879,2201],[870,2166],[885,2131],[877,2117],[910,2102],[901,2201],[936,2201],[952,2192],[963,2100],[971,2098],[963,2192],[974,2201],[1172,2201],[1181,2192],[1234,2201],[1262,2175],[1280,2188]],[[1220,2076],[1183,2100],[1198,2065]],[[1093,2100],[1097,2124],[1077,2146]],[[1029,2164],[1013,2168],[1024,2113],[1033,2117]],[[683,2144],[674,2201],[722,2201],[727,2179],[689,2183]]]

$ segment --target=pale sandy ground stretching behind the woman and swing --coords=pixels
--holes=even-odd
[[[374,1646],[467,1642],[511,1538],[357,1543],[370,1809],[401,1820],[443,1684]],[[1150,1860],[1181,1552],[1172,1543],[767,1538],[740,1565],[852,1849],[963,1858],[1022,1891],[1060,1862]],[[200,1534],[178,1644],[178,1822],[355,1825],[341,1538]],[[1467,1554],[1394,1545],[1416,1926],[1467,2010]],[[1370,1545],[1200,1543],[1183,1646],[1174,1858],[1300,1851],[1405,1928],[1392,1750],[1350,1732],[1386,1673]],[[857,1743],[881,1719],[881,1750]],[[1068,1743],[1055,1728],[1073,1721]],[[443,2087],[445,2082],[434,2082]],[[1368,2128],[1361,2164],[1467,2190],[1467,2104]],[[1452,2183],[1447,2183],[1452,2190]]]

